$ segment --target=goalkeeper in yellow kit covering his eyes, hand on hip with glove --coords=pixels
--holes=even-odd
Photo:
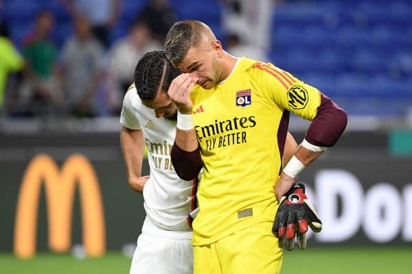
[[[284,242],[304,249],[308,225],[321,230],[297,175],[339,139],[345,112],[273,64],[229,55],[199,21],[175,23],[165,51],[183,71],[168,90],[179,111],[174,169],[192,179],[203,167],[194,273],[279,273]],[[282,169],[290,112],[312,122]]]

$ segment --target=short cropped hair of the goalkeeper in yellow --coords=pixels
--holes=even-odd
[[[166,35],[165,51],[174,66],[183,61],[191,47],[198,45],[204,28],[205,24],[196,20],[178,21],[170,27]]]

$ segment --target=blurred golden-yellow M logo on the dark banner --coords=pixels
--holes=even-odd
[[[45,184],[48,244],[54,252],[71,247],[71,217],[76,184],[80,190],[82,240],[88,256],[106,251],[104,210],[98,177],[83,155],[71,155],[59,171],[56,162],[45,154],[32,159],[23,175],[16,208],[14,253],[30,258],[36,253],[38,201]]]

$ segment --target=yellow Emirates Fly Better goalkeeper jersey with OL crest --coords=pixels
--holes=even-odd
[[[314,119],[319,90],[273,64],[240,58],[224,82],[195,86],[191,99],[204,165],[194,245],[272,222],[289,112]]]

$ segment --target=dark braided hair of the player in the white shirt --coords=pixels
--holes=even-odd
[[[168,91],[172,80],[181,72],[174,69],[165,51],[149,51],[137,62],[135,86],[142,100],[155,99],[159,90]]]

